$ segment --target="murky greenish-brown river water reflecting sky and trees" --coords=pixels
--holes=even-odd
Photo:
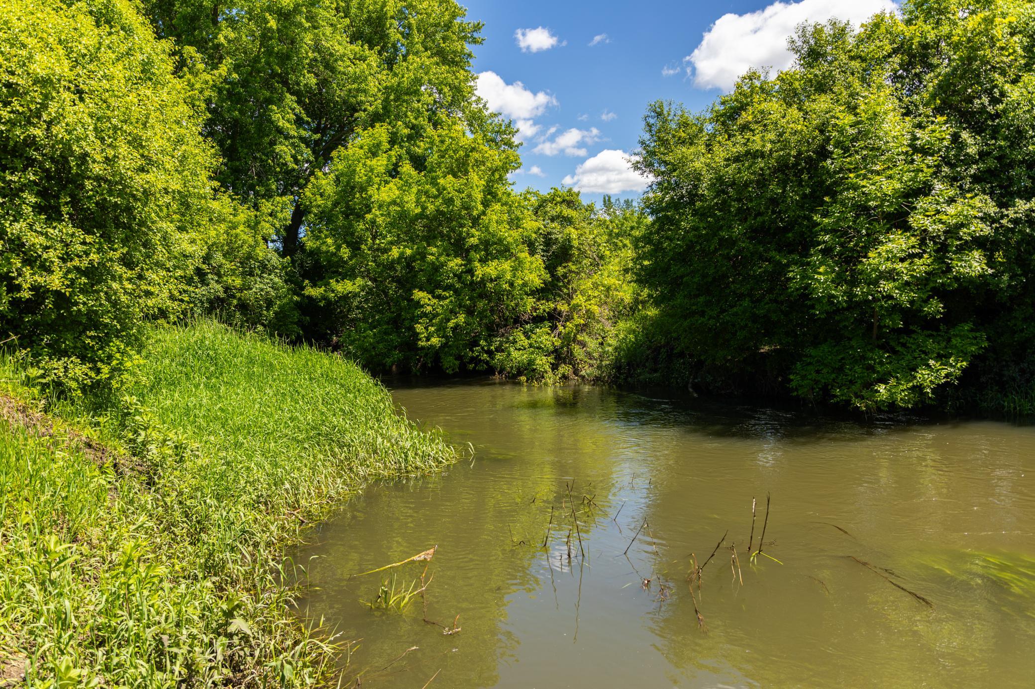
[[[350,682],[1030,686],[1035,675],[1033,428],[484,381],[392,394],[476,458],[371,487],[302,553],[315,557],[309,615],[362,639]],[[757,545],[767,491],[764,551],[781,565],[747,555],[751,500]],[[694,589],[706,633],[689,556],[704,562],[727,531]],[[363,607],[379,575],[350,574],[436,544],[426,618],[460,616],[462,631],[423,622],[419,601],[404,616]]]

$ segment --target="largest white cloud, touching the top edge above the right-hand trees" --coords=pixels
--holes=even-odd
[[[836,17],[857,27],[877,12],[894,8],[891,0],[801,0],[774,2],[746,14],[723,14],[684,62],[693,65],[694,86],[729,91],[750,67],[779,70],[791,66],[794,58],[787,39],[802,22],[826,22]],[[661,73],[670,76],[676,70],[664,67]]]

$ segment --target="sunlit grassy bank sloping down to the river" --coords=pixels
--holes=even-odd
[[[353,364],[210,323],[155,329],[106,399],[48,402],[2,368],[7,681],[315,682],[333,649],[292,618],[284,546],[364,481],[454,456]]]

